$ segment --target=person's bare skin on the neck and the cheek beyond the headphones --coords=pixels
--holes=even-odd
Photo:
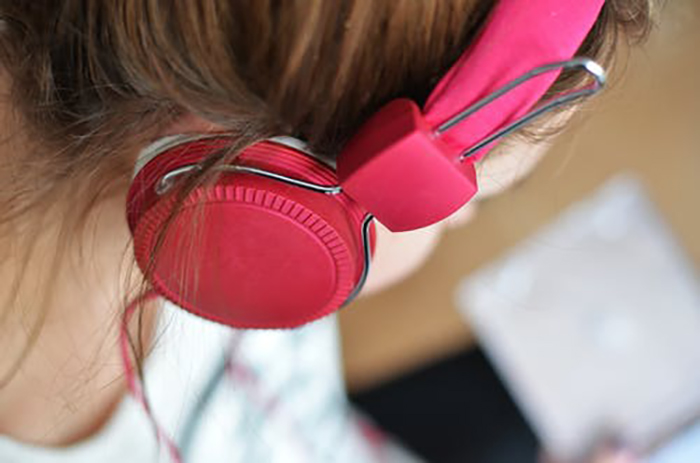
[[[0,88],[8,88],[0,81]],[[0,159],[8,166],[12,159],[29,150],[21,137],[22,127],[13,117],[13,108],[0,100],[2,135],[12,134],[0,144]],[[192,116],[164,130],[159,136],[175,133],[217,131],[218,127]],[[20,134],[17,136],[17,134]],[[6,137],[3,136],[5,140]],[[479,167],[481,192],[476,201],[450,219],[415,232],[391,234],[378,228],[377,252],[364,294],[380,291],[418,269],[438,244],[442,232],[461,226],[473,218],[478,200],[497,194],[527,175],[546,152],[546,144],[510,143]],[[125,153],[131,159],[137,153]],[[67,251],[66,265],[58,273],[58,290],[45,306],[46,319],[38,341],[9,383],[0,389],[0,434],[19,441],[65,446],[83,440],[109,419],[127,393],[118,349],[118,323],[124,292],[131,280],[138,281],[138,269],[131,267],[129,231],[125,221],[125,192],[104,198],[89,217],[90,240],[79,249]],[[26,217],[26,220],[39,218]],[[25,284],[19,300],[25,306],[37,301],[37,290],[46,279],[43,256],[58,245],[56,236],[60,215],[43,217],[44,233],[36,252],[24,269]],[[11,276],[20,272],[22,249],[9,249],[7,236],[0,233],[0,297],[10,292]],[[51,276],[55,276],[52,273]],[[3,307],[7,314],[0,324],[2,352],[0,372],[8,371],[26,343],[28,320],[36,314],[16,307]],[[157,310],[144,311],[146,332],[153,326]],[[105,323],[105,321],[108,321]],[[135,334],[132,333],[132,334]],[[608,461],[608,460],[601,460]],[[617,460],[610,460],[617,461]],[[625,460],[627,461],[627,460]]]

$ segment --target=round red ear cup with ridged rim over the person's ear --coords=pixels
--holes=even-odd
[[[139,266],[173,303],[230,326],[289,328],[333,312],[364,269],[366,212],[345,194],[226,172],[188,195],[166,228],[177,189],[159,195],[158,183],[227,142],[219,137],[178,145],[139,171],[128,196]],[[236,165],[337,185],[331,169],[274,142],[248,148]]]

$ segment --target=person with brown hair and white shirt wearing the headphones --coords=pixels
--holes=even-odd
[[[172,134],[226,132],[232,151],[294,136],[333,161],[388,101],[424,103],[493,7],[4,2],[0,460],[412,461],[349,410],[332,317],[232,332],[142,299],[125,375],[121,321],[147,286],[126,195],[139,153]],[[608,1],[578,55],[609,61],[623,37],[641,36],[650,10],[651,0]],[[565,72],[549,93],[580,80]],[[497,148],[480,163],[482,191],[493,189],[495,163],[535,158],[542,146]],[[214,162],[204,164],[190,186],[213,178]],[[410,272],[440,227],[404,247],[379,229],[368,288]],[[137,400],[125,399],[129,388]]]

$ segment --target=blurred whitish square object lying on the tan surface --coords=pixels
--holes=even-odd
[[[700,411],[700,285],[632,178],[466,277],[456,299],[556,455],[605,433],[649,448]]]

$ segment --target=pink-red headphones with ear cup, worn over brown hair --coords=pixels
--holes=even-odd
[[[246,149],[215,185],[185,198],[162,243],[176,178],[230,138],[151,145],[128,195],[140,267],[149,268],[158,248],[155,291],[230,326],[289,328],[332,313],[367,277],[373,218],[397,232],[446,218],[477,192],[474,163],[497,140],[603,86],[597,64],[571,59],[603,3],[500,0],[422,109],[407,99],[387,104],[345,146],[335,170],[291,139]],[[595,83],[533,110],[572,67]]]

